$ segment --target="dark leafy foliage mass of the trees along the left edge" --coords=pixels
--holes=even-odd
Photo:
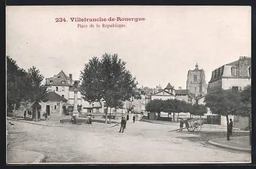
[[[7,56],[7,105],[8,112],[22,101],[31,103],[40,101],[41,95],[46,92],[44,86],[40,86],[44,79],[35,66],[28,71],[18,67],[16,61]]]

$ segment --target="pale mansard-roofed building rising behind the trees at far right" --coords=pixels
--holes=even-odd
[[[251,58],[240,57],[239,60],[225,64],[211,73],[207,93],[221,89],[240,90],[251,84]]]

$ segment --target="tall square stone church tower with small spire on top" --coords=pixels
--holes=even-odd
[[[204,70],[198,68],[198,63],[194,70],[187,72],[187,87],[190,93],[196,96],[204,95],[207,93],[207,83],[205,82]]]

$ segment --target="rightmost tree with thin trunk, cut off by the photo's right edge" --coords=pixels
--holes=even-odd
[[[251,85],[248,85],[240,91],[241,96],[241,115],[248,117],[248,127],[250,131],[250,144],[251,144]]]

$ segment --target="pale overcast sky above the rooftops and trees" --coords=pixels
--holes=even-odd
[[[65,17],[67,22],[55,22]],[[70,17],[144,17],[145,21],[71,22]],[[125,28],[77,28],[118,23]],[[94,56],[117,53],[138,87],[186,88],[187,71],[211,71],[251,57],[251,8],[246,6],[9,6],[7,55],[19,67],[35,65],[45,78],[62,69],[78,80]]]

